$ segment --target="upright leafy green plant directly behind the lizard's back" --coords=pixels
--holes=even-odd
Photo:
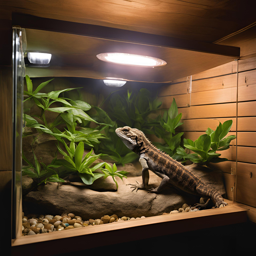
[[[165,141],[165,144],[154,143],[160,150],[169,154],[176,160],[182,160],[182,156],[177,153],[181,148],[181,136],[183,132],[176,133],[175,129],[182,125],[180,121],[182,113],[178,114],[178,107],[173,98],[172,104],[168,111],[164,111],[162,117],[158,117],[160,122],[158,126],[154,127],[155,135]]]

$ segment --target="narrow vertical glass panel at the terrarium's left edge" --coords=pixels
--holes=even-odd
[[[13,72],[13,165],[12,165],[12,239],[21,236],[22,220],[22,99],[25,65],[22,53],[21,29],[12,32],[12,72]]]

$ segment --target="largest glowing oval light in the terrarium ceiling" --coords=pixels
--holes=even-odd
[[[97,58],[101,61],[129,66],[155,67],[166,65],[166,62],[161,59],[130,53],[105,52],[98,54]]]

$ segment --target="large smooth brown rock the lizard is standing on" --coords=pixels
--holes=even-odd
[[[221,194],[225,194],[221,173],[209,169],[204,169],[197,165],[186,166],[191,172],[201,178],[205,183],[214,188],[218,188]],[[117,214],[119,217],[149,217],[161,215],[164,212],[179,209],[184,203],[199,203],[199,197],[178,191],[171,185],[167,186],[160,194],[147,193],[146,190],[132,191],[131,185],[138,180],[141,182],[141,176],[136,177],[136,171],[132,171],[132,165],[118,167],[118,170],[130,169],[130,177],[123,181],[116,178],[118,190],[105,191],[102,187],[93,187],[85,185],[58,185],[57,183],[47,183],[39,186],[37,191],[31,191],[23,197],[23,206],[28,213],[38,214],[62,214],[74,213],[82,217],[83,220],[89,218],[97,219],[104,215]],[[209,179],[208,179],[209,177]],[[108,177],[108,183],[114,183],[111,177]],[[150,172],[148,188],[157,187],[161,178]],[[99,186],[103,183],[99,182]],[[109,185],[108,185],[109,186]],[[98,191],[96,191],[98,190]],[[102,192],[103,191],[103,192]]]

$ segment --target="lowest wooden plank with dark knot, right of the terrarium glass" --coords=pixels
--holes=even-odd
[[[252,173],[252,176],[250,176]],[[256,207],[256,165],[238,163],[237,165],[237,201]]]

